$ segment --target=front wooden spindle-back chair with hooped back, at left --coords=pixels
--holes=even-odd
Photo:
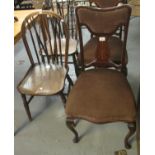
[[[63,42],[61,28],[65,31]],[[63,93],[65,79],[68,79],[70,85],[73,84],[68,75],[67,65],[69,36],[62,18],[50,11],[28,15],[23,21],[21,31],[31,66],[17,89],[31,121],[29,103],[34,96],[58,94],[65,105],[66,97]],[[62,51],[65,51],[65,57],[62,57]]]

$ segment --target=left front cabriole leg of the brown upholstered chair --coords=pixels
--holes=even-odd
[[[79,142],[79,136],[78,136],[77,131],[75,130],[76,124],[75,124],[74,120],[71,120],[71,119],[67,118],[66,125],[75,135],[75,137],[73,139],[73,142],[78,143]]]

